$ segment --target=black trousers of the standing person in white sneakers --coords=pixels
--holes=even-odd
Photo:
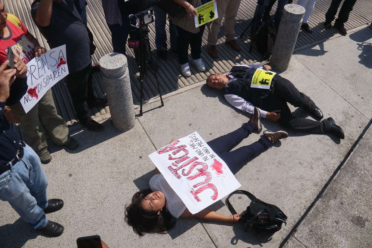
[[[202,53],[202,37],[205,25],[200,26],[199,29],[200,30],[198,33],[191,33],[177,26],[177,54],[180,65],[189,62],[189,59],[187,58],[189,55],[189,45],[191,48],[191,57],[193,59],[200,58],[200,54]]]

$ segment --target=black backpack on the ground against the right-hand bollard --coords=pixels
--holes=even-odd
[[[275,44],[276,29],[274,21],[269,20],[260,27],[256,36],[256,45],[259,53],[265,58],[269,59]]]

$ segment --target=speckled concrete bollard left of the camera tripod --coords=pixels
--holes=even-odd
[[[114,52],[100,58],[99,65],[112,123],[116,129],[128,131],[135,123],[128,61],[125,55]]]

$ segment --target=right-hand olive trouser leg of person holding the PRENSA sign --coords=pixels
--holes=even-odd
[[[45,131],[56,145],[64,145],[69,141],[65,120],[58,115],[55,108],[52,90],[48,90],[39,101],[39,117]]]

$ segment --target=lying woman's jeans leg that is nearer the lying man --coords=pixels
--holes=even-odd
[[[212,139],[207,142],[211,149],[217,153],[222,154],[224,152],[229,152],[232,148],[237,146],[243,139],[247,138],[254,130],[254,125],[252,122],[244,123],[237,130],[222,135],[218,138]]]

